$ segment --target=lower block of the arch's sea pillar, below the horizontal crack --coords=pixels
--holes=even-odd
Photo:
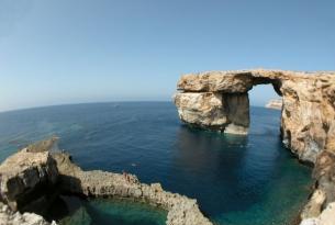
[[[246,93],[177,93],[175,103],[180,119],[193,126],[237,134],[247,133],[249,100]]]

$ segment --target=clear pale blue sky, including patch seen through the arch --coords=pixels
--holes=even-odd
[[[335,70],[335,1],[0,0],[0,111],[170,100],[181,74],[257,67]]]

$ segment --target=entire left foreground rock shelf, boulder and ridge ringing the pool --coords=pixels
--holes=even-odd
[[[167,192],[159,183],[141,183],[133,175],[83,171],[68,154],[49,151],[54,142],[55,138],[31,145],[1,164],[0,224],[47,225],[32,212],[47,210],[55,195],[63,193],[146,202],[168,211],[167,225],[212,224],[196,200]]]

